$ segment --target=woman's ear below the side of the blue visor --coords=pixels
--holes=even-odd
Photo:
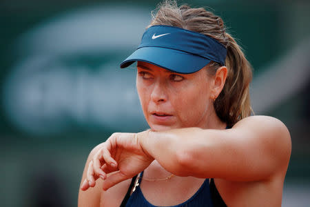
[[[213,86],[211,86],[211,95],[210,98],[215,100],[218,95],[220,95],[220,92],[223,90],[223,87],[225,85],[225,80],[227,77],[227,68],[226,66],[221,66],[216,70],[216,74],[214,75],[214,83]]]

